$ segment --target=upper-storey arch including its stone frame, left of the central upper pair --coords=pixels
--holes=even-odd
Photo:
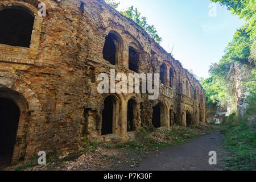
[[[112,65],[121,63],[123,52],[123,39],[117,31],[110,30],[105,37],[104,47],[102,49],[103,58]]]

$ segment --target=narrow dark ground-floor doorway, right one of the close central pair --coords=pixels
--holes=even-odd
[[[127,105],[127,132],[135,130],[135,112],[136,102],[134,99],[130,99]]]

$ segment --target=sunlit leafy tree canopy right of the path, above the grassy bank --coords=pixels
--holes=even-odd
[[[240,69],[255,68],[255,20],[256,6],[255,0],[211,0],[224,5],[233,14],[240,16],[246,20],[246,24],[238,29],[233,36],[232,42],[226,47],[225,55],[219,63],[214,63],[210,66],[209,73],[211,77],[201,81],[204,89],[207,92],[208,105],[233,105],[233,110],[236,110],[236,96],[234,87],[235,64]],[[245,89],[250,90],[249,100],[255,101],[255,71],[252,73],[249,82],[245,84]],[[254,102],[255,103],[255,102]]]

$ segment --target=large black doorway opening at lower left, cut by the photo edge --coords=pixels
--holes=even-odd
[[[20,111],[18,106],[0,98],[0,169],[11,165]]]

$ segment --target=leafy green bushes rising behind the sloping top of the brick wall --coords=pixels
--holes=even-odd
[[[141,16],[141,13],[137,8],[131,6],[126,10],[120,11],[120,13],[141,26],[151,36],[151,38],[155,40],[155,42],[160,43],[162,41],[162,38],[157,34],[154,25],[150,26],[147,23],[147,18],[145,16]]]

